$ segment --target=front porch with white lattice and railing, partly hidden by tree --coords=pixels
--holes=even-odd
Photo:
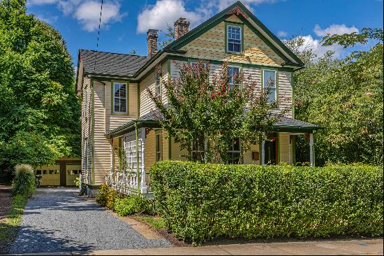
[[[309,162],[314,166],[313,131],[321,129],[300,120],[283,118],[276,123],[272,137],[261,145],[252,145],[242,164],[295,164],[295,138],[304,134],[309,141]],[[124,194],[151,194],[150,167],[157,161],[186,160],[180,149],[149,113],[106,134],[111,145],[111,169],[106,182]]]

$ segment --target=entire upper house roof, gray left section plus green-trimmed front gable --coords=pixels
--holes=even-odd
[[[214,27],[216,24],[219,24],[219,22],[226,20],[226,18],[232,14],[236,14],[237,17],[247,24],[272,50],[284,59],[285,62],[282,64],[283,66],[292,66],[296,69],[304,66],[304,63],[284,45],[279,38],[269,31],[240,1],[237,1],[198,27],[184,34],[184,36],[173,41],[153,57],[97,52],[94,50],[79,50],[79,57],[81,57],[83,61],[84,73],[98,76],[138,78],[143,71],[156,62],[159,57],[163,56],[163,53],[184,55],[186,52],[181,50],[182,46],[205,33],[205,31]]]

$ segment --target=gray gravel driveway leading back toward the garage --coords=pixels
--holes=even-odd
[[[29,200],[10,253],[54,253],[170,247],[146,239],[104,208],[76,197],[76,188],[39,188]]]

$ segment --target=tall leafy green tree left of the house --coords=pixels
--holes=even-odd
[[[59,32],[27,15],[25,1],[0,1],[0,155],[7,156],[1,157],[0,169],[80,155],[74,83],[71,56]]]

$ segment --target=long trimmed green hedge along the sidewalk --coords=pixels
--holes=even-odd
[[[383,235],[383,167],[158,162],[158,212],[178,237]]]

